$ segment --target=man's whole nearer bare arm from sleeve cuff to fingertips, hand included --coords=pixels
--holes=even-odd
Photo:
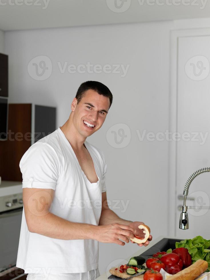
[[[125,245],[133,229],[125,224],[91,225],[65,220],[50,212],[53,189],[23,188],[23,205],[28,230],[64,240],[95,239],[104,243]],[[122,239],[123,241],[119,240]]]

